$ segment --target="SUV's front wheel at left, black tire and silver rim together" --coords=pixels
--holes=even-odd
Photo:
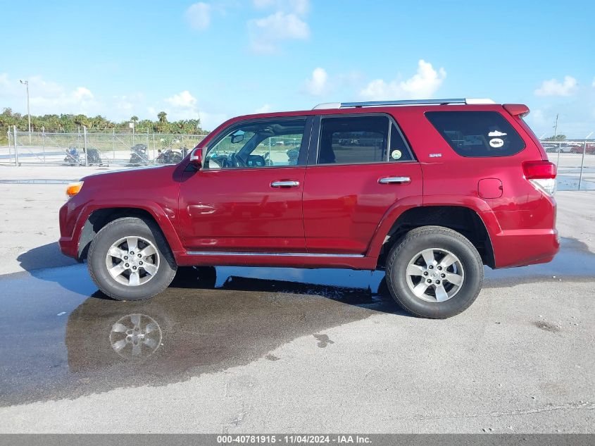
[[[130,217],[118,218],[102,228],[87,260],[99,289],[118,300],[158,295],[171,283],[177,268],[158,226]]]

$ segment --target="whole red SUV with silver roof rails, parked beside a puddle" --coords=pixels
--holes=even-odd
[[[385,269],[418,316],[466,309],[483,265],[551,261],[556,166],[518,104],[320,104],[228,120],[182,162],[69,187],[62,252],[106,295],[147,299],[180,266]]]

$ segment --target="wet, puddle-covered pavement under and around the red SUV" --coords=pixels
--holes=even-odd
[[[269,352],[304,335],[332,347],[322,332],[373,315],[411,319],[389,297],[381,271],[216,272],[209,283],[194,270],[180,271],[146,302],[104,297],[85,265],[0,276],[0,406],[178,383],[262,357],[276,361]],[[594,279],[595,254],[564,239],[550,264],[486,268],[484,288]]]

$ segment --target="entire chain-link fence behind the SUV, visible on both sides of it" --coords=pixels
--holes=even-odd
[[[0,147],[0,163],[17,166],[147,166],[177,163],[205,135],[161,133],[8,131],[8,147]],[[294,141],[274,142],[272,153]],[[282,147],[276,147],[279,144]],[[558,166],[558,190],[595,190],[595,140],[542,140],[550,161]],[[287,146],[287,147],[286,147]]]

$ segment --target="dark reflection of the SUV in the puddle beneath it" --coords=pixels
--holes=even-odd
[[[342,277],[349,281],[344,272]],[[354,283],[368,286],[361,277]],[[296,337],[317,335],[375,311],[399,311],[387,293],[372,293],[369,286],[237,275],[214,285],[214,268],[184,268],[168,290],[148,301],[116,302],[96,292],[68,319],[70,372],[92,378],[91,387],[95,375],[104,384],[113,376],[111,388],[172,383],[248,364]],[[383,286],[384,281],[380,292]],[[314,336],[312,342],[318,343]]]

